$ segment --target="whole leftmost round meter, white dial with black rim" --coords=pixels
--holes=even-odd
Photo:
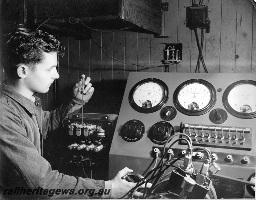
[[[155,78],[138,82],[129,93],[129,103],[138,112],[152,113],[162,108],[169,97],[167,85]]]

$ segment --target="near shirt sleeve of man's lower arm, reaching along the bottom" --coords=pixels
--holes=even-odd
[[[5,122],[2,123],[3,121],[1,121],[0,123],[0,185],[4,189],[12,189],[13,191],[19,187],[27,188],[27,190],[39,190],[39,194],[34,192],[33,195],[15,195],[11,198],[102,198],[105,181],[69,176],[59,173],[57,170],[52,170],[50,164],[39,155],[38,150],[31,142],[33,138],[28,138],[26,127],[24,127],[18,115],[15,113],[1,113],[0,120]],[[109,184],[107,184],[107,187],[109,187]],[[62,193],[67,190],[66,194]],[[50,191],[51,193],[49,193]],[[105,197],[110,196],[108,194]]]

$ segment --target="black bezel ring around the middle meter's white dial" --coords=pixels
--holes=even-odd
[[[206,107],[199,109],[199,110],[188,110],[188,109],[184,108],[178,101],[179,92],[182,90],[182,88],[184,88],[185,86],[187,86],[191,83],[201,83],[201,84],[205,85],[211,92],[211,100]],[[217,100],[217,93],[216,93],[214,86],[211,83],[209,83],[208,81],[203,80],[203,79],[187,80],[187,81],[183,82],[182,84],[180,84],[176,88],[176,90],[174,91],[174,94],[173,94],[173,103],[174,103],[175,107],[177,108],[177,110],[179,110],[181,113],[183,113],[185,115],[189,115],[189,116],[198,116],[198,115],[207,113],[209,110],[211,110],[213,108],[213,106],[216,103],[216,100]]]

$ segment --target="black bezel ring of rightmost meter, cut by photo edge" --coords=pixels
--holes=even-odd
[[[227,89],[224,91],[223,96],[222,96],[222,103],[225,107],[225,109],[233,116],[238,117],[238,118],[242,118],[242,119],[252,119],[256,117],[256,112],[252,112],[252,113],[241,113],[241,112],[237,112],[236,110],[234,110],[229,102],[228,102],[228,95],[230,93],[230,91],[238,86],[238,85],[243,85],[243,84],[251,84],[251,85],[255,85],[256,86],[256,81],[253,80],[240,80],[240,81],[236,81],[234,83],[232,83],[230,86],[227,87]]]

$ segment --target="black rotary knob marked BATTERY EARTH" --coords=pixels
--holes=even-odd
[[[164,144],[174,134],[173,126],[165,121],[155,123],[149,131],[149,138],[155,144]]]

